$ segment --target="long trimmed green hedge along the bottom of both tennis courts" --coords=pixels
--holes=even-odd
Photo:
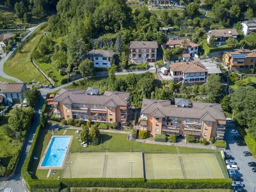
[[[61,179],[63,188],[229,189],[232,179]]]

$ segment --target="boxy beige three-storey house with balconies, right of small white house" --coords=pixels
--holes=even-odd
[[[132,63],[154,63],[157,61],[157,42],[131,42],[131,56]]]

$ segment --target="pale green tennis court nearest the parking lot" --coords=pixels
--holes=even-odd
[[[215,154],[144,154],[146,179],[221,179]]]

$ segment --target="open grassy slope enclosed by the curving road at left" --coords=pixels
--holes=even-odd
[[[13,56],[4,63],[4,72],[26,83],[39,81],[41,84],[49,84],[30,60],[33,50],[44,35],[44,30],[40,30],[39,28],[34,33],[37,35],[24,45],[22,52],[15,52]]]

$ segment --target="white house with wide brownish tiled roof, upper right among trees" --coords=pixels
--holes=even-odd
[[[237,38],[236,29],[216,29],[208,31],[207,33],[207,43],[210,43],[211,38],[215,38],[215,46],[221,46],[226,44],[228,38]]]

